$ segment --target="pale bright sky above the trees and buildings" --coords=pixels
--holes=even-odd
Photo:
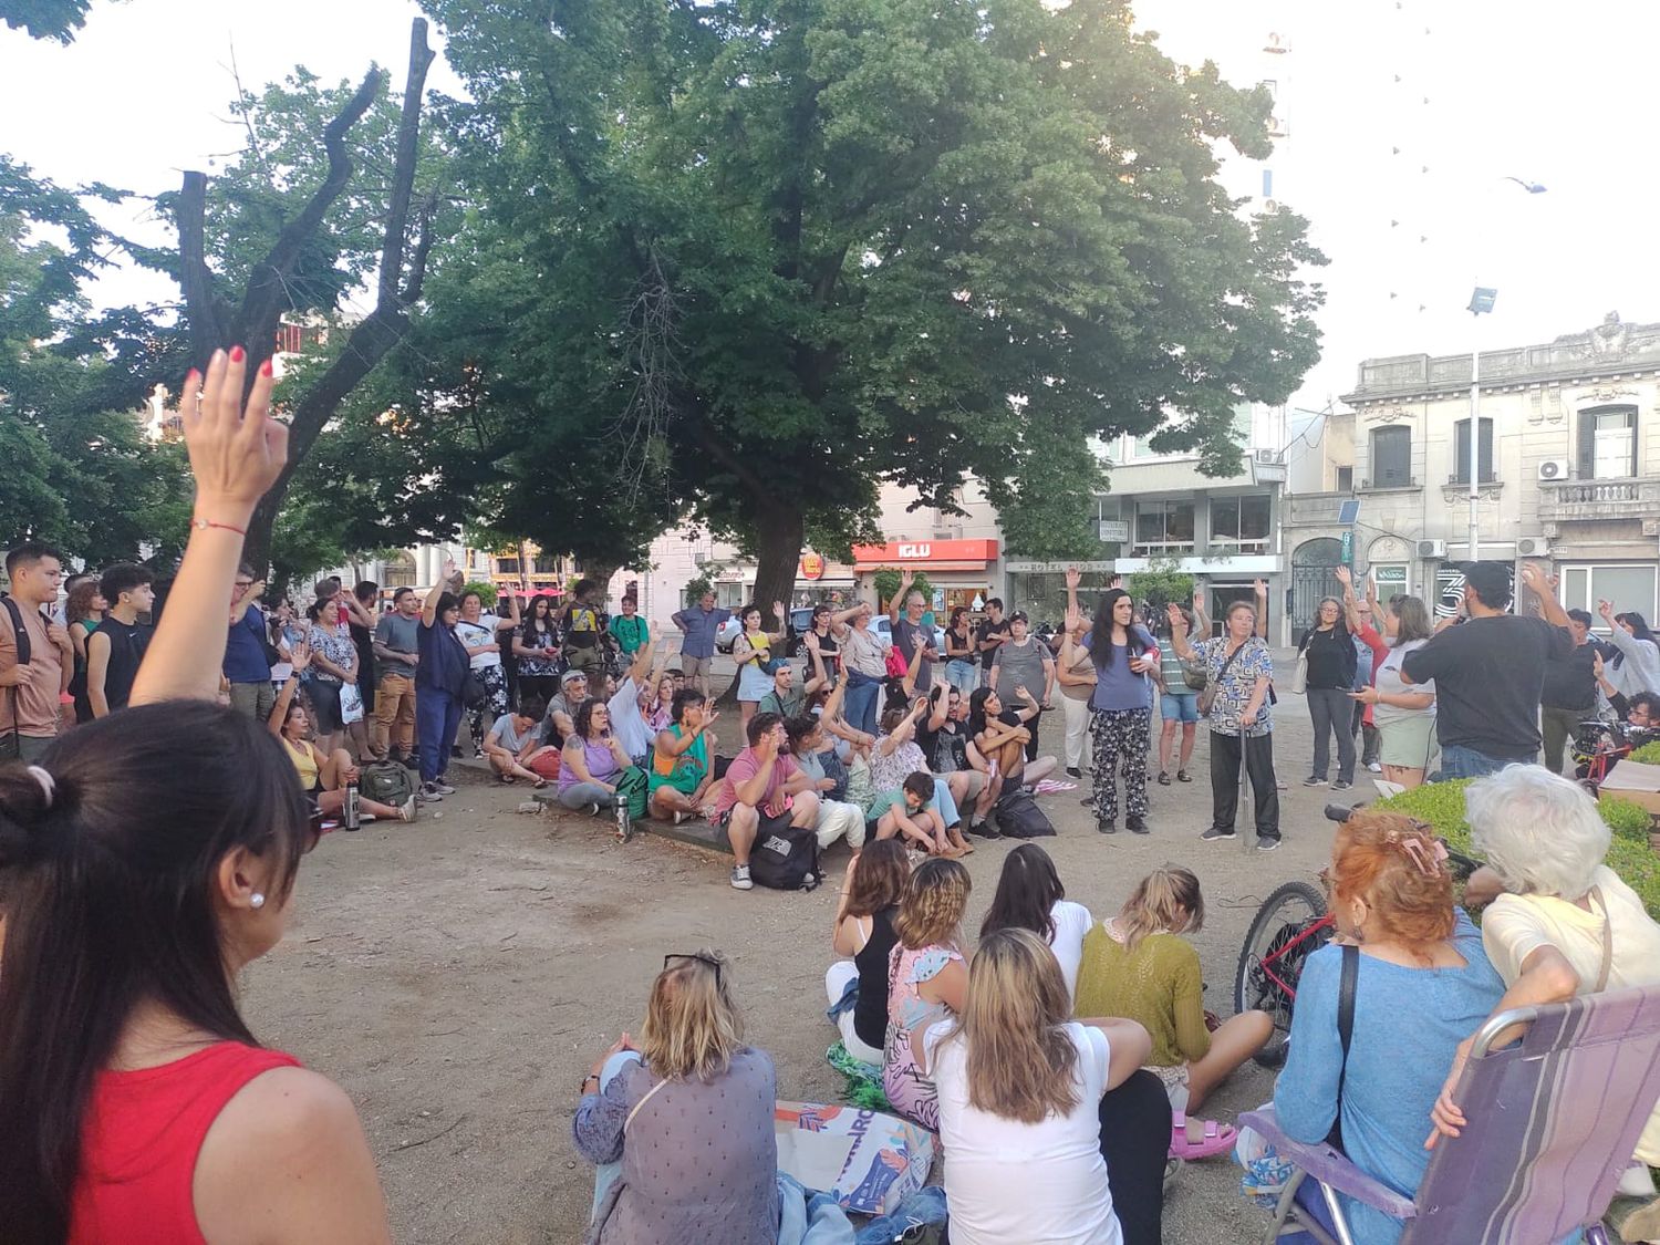
[[[1368,357],[1544,342],[1610,310],[1660,320],[1648,241],[1660,166],[1642,123],[1660,3],[1139,0],[1134,12],[1175,60],[1280,85],[1275,199],[1311,221],[1331,261],[1311,274],[1328,292],[1325,355],[1295,405],[1323,408]],[[239,146],[232,53],[251,90],[297,63],[355,83],[377,61],[400,83],[417,13],[412,0],[95,0],[68,48],[0,30],[0,151],[65,184],[176,189],[181,169],[211,173]],[[1270,33],[1290,51],[1263,53]],[[432,40],[442,50],[442,32]],[[461,93],[442,56],[428,86]],[[1235,159],[1223,179],[1260,198],[1262,169]],[[106,221],[164,241],[141,204]],[[1499,289],[1479,324],[1462,310],[1474,284]],[[95,297],[176,292],[123,271]]]

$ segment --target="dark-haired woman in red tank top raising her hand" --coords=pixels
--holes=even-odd
[[[350,1101],[236,1006],[317,842],[281,745],[212,704],[242,531],[286,447],[266,372],[244,420],[246,362],[219,350],[184,383],[198,523],[133,707],[0,765],[7,1245],[390,1238]]]

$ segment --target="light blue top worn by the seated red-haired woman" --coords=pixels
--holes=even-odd
[[[1464,968],[1406,968],[1361,953],[1355,1031],[1343,1077],[1343,1149],[1360,1170],[1411,1197],[1429,1167],[1429,1109],[1452,1071],[1457,1044],[1481,1028],[1504,981],[1462,908],[1452,943]],[[1336,1119],[1343,1041],[1338,989],[1343,948],[1308,956],[1296,983],[1291,1042],[1273,1089],[1280,1127],[1300,1142],[1325,1140]],[[1356,1245],[1393,1245],[1401,1222],[1345,1197]]]

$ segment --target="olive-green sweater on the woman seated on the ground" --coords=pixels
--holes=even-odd
[[[1084,935],[1074,1014],[1139,1021],[1152,1067],[1177,1067],[1210,1051],[1199,953],[1177,935],[1149,935],[1130,951],[1097,923]]]

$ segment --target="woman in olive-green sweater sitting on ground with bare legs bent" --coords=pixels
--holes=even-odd
[[[1265,1011],[1208,1029],[1199,953],[1182,938],[1204,925],[1199,878],[1165,865],[1140,880],[1117,916],[1091,928],[1077,971],[1079,1016],[1129,1016],[1152,1034],[1147,1066],[1170,1097],[1170,1154],[1184,1159],[1230,1149],[1233,1129],[1189,1116],[1273,1034]]]

